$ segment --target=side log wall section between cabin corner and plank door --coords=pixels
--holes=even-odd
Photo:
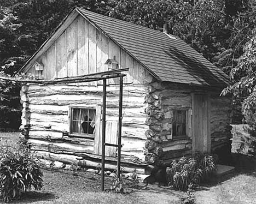
[[[146,148],[148,163],[158,160],[172,160],[191,154],[191,138],[174,139],[172,137],[173,110],[191,110],[191,91],[173,83],[150,83],[146,101],[148,141]],[[190,121],[191,122],[191,121]],[[191,126],[190,128],[191,132]],[[189,134],[191,136],[191,134]]]

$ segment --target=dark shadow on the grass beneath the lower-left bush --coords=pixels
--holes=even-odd
[[[19,200],[15,200],[12,203],[33,203],[36,201],[49,201],[58,198],[59,197],[49,192],[28,191],[24,193]]]

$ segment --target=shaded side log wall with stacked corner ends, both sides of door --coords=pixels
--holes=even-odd
[[[146,132],[148,138],[146,148],[148,154],[146,161],[155,163],[159,159],[169,162],[172,159],[193,153],[192,145],[192,121],[188,118],[187,137],[175,138],[172,136],[172,111],[187,110],[193,115],[192,100],[193,93],[209,95],[209,121],[210,125],[211,151],[218,153],[219,148],[229,148],[230,143],[230,104],[231,100],[226,97],[219,97],[216,92],[209,91],[199,87],[177,85],[168,82],[150,83],[147,88],[148,95],[146,101],[147,107],[147,125],[149,130]],[[196,136],[196,135],[195,135]],[[209,149],[210,150],[210,149]],[[230,151],[228,149],[227,151]]]

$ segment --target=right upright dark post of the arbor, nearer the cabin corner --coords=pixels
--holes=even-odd
[[[118,122],[118,163],[117,163],[117,177],[120,178],[121,167],[121,131],[122,131],[122,109],[123,109],[123,76],[120,77],[119,85],[119,122]]]

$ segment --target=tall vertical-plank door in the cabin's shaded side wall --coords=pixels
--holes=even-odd
[[[192,150],[210,153],[210,97],[207,94],[193,94],[192,111]]]

